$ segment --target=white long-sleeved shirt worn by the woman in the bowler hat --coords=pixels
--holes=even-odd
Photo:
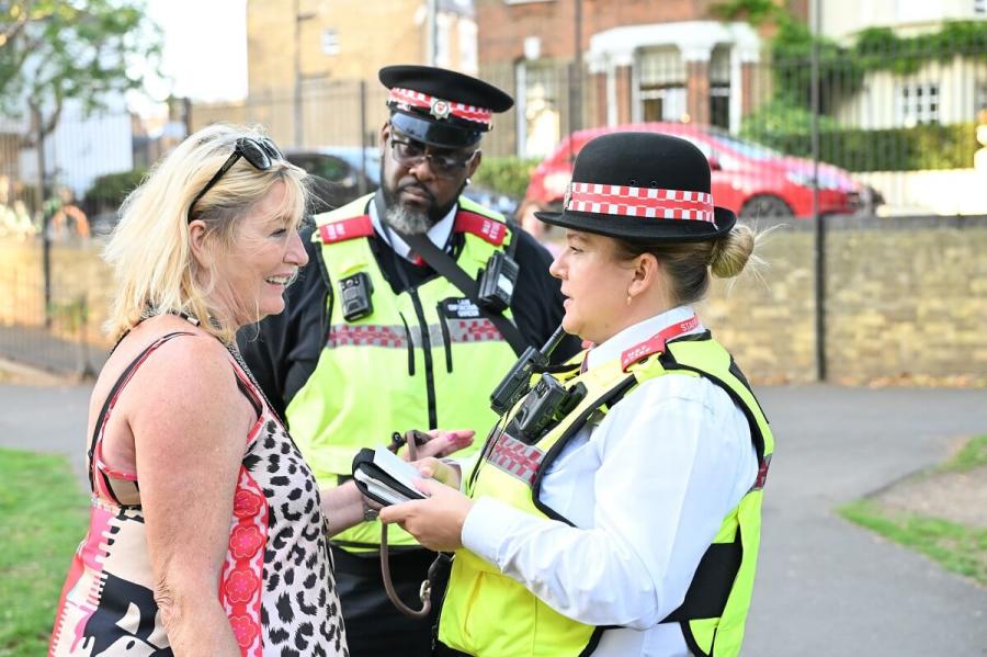
[[[593,348],[587,366],[692,314],[683,306],[632,326]],[[466,517],[463,544],[558,612],[621,626],[603,633],[594,656],[685,656],[679,625],[659,621],[682,603],[757,472],[747,419],[723,389],[660,376],[579,431],[545,473],[541,501],[575,528],[483,497]]]

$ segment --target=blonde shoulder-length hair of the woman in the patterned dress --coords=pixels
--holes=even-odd
[[[189,136],[161,159],[120,208],[120,224],[103,252],[113,268],[116,290],[105,324],[118,340],[148,314],[186,314],[225,343],[237,327],[229,325],[209,301],[215,281],[203,283],[203,267],[192,252],[189,205],[234,152],[240,137],[260,139],[260,128],[215,124]],[[240,219],[271,189],[284,182],[279,214],[300,224],[307,200],[305,172],[283,159],[266,171],[241,157],[195,203],[192,218],[206,227],[205,243],[229,249],[242,225]],[[211,277],[209,277],[211,279]]]

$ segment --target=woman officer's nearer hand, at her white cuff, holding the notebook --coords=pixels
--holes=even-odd
[[[416,482],[416,486],[429,498],[384,507],[381,521],[398,523],[429,550],[453,552],[462,547],[463,523],[473,500],[431,479]]]

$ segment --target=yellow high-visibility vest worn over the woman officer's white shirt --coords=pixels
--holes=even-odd
[[[491,437],[484,457],[466,479],[468,495],[489,496],[533,516],[572,524],[534,496],[535,484],[563,449],[559,443],[644,381],[672,374],[711,381],[726,390],[747,417],[761,467],[755,486],[724,518],[684,602],[662,622],[678,622],[695,655],[736,656],[753,586],[762,487],[774,450],[768,420],[747,381],[708,332],[670,341],[663,353],[646,355],[626,367],[615,359],[580,374],[579,363],[580,359],[571,361],[572,367],[559,378],[570,389],[579,383],[586,386],[582,401],[533,444],[509,432]],[[521,404],[509,411],[506,426],[510,427]],[[456,552],[439,624],[439,638],[450,647],[497,657],[589,655],[605,630],[558,613],[468,550]]]

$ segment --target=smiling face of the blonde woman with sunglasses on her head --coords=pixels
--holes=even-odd
[[[232,243],[218,249],[213,296],[236,326],[284,310],[284,290],[308,262],[296,217],[285,214],[285,183],[238,218]]]

